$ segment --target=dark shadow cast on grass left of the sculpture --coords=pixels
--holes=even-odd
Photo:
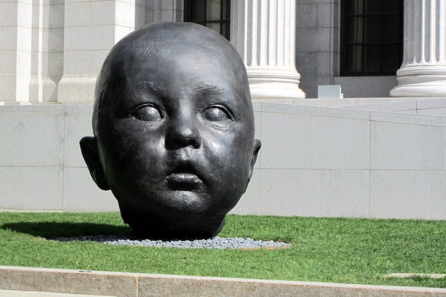
[[[130,227],[95,223],[17,222],[3,224],[0,229],[26,233],[36,237],[74,237],[82,235],[131,234]]]

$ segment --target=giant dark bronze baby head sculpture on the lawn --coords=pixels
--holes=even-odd
[[[151,238],[209,238],[246,191],[260,141],[246,69],[218,33],[158,23],[119,41],[99,74],[90,174]]]

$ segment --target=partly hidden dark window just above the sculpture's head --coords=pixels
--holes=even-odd
[[[222,34],[229,40],[230,0],[185,0],[184,21]]]

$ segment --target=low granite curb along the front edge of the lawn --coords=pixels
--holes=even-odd
[[[446,297],[446,289],[0,266],[0,289],[119,297]]]

